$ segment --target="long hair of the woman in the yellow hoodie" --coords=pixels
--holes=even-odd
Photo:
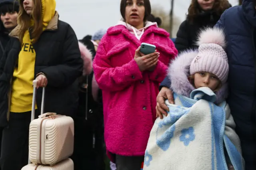
[[[35,43],[43,32],[42,2],[41,0],[33,0],[34,8],[31,16],[26,13],[23,7],[24,0],[19,0],[19,2],[20,10],[18,13],[18,32],[20,43],[22,44],[24,34],[28,29],[32,30],[30,39],[32,39],[32,43]],[[32,19],[34,20],[34,24],[31,27]]]

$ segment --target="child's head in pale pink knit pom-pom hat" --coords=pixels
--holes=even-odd
[[[198,42],[198,54],[190,64],[190,83],[194,88],[209,87],[212,91],[218,91],[228,79],[228,57],[223,47],[224,41],[211,40],[208,35],[212,31],[204,32]],[[205,38],[205,39],[204,39]]]

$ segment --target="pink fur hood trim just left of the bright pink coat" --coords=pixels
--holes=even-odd
[[[81,58],[84,61],[83,75],[89,75],[92,72],[92,53],[83,43],[78,42],[78,45],[81,53]]]

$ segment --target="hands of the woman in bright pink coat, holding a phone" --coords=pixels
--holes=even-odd
[[[158,57],[159,52],[155,51],[154,53],[144,55],[140,52],[140,47],[138,47],[138,49],[135,51],[134,60],[138,64],[140,71],[153,71],[158,62]]]

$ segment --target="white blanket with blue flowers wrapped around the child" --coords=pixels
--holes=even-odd
[[[190,98],[174,93],[176,105],[156,119],[150,132],[143,170],[244,170],[240,140],[226,102],[215,105],[208,87],[192,91]]]

